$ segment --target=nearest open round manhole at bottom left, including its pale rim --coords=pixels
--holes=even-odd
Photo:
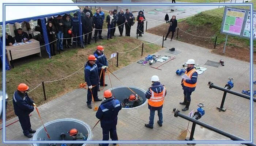
[[[45,124],[45,128],[50,135],[51,141],[61,141],[60,135],[62,133],[65,134],[64,141],[72,141],[72,137],[69,136],[67,133],[72,128],[76,128],[79,132],[82,132],[82,134],[85,136],[88,134],[88,132],[91,130],[89,125],[86,123],[76,120],[76,119],[59,119],[54,120],[49,123]],[[92,134],[90,134],[87,137],[87,141],[90,141],[92,137]],[[44,130],[44,127],[41,126],[37,129],[37,132],[33,135],[32,141],[49,141],[46,132]],[[47,144],[47,143],[33,143],[33,146],[60,146],[61,144]],[[67,143],[67,146],[71,144]],[[79,145],[76,143],[75,145]],[[85,146],[86,143],[81,143],[82,146]]]

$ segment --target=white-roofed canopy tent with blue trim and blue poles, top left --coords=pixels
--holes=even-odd
[[[3,6],[3,3],[52,3],[52,0],[26,0],[26,1],[20,1],[20,0],[3,0],[1,3],[1,6]],[[55,0],[54,3],[73,3],[72,0]],[[22,10],[22,11],[21,11]],[[45,18],[50,18],[52,16],[57,17],[58,15],[64,15],[64,14],[70,14],[75,13],[78,11],[78,18],[79,18],[79,36],[80,40],[82,40],[82,23],[81,23],[81,14],[79,11],[79,8],[77,6],[6,6],[5,7],[5,24],[14,24],[16,22],[22,23],[23,21],[29,22],[30,20],[38,20],[41,19],[41,26],[42,26],[42,32],[44,35],[44,41],[45,41],[45,49],[47,51],[47,54],[49,55],[49,58],[51,58],[50,55],[50,46],[48,41],[48,35],[46,30],[46,21]],[[0,16],[2,16],[2,12],[0,12]],[[21,15],[17,15],[21,14]],[[26,15],[23,15],[26,14]],[[3,25],[3,18],[0,17],[0,25]],[[3,55],[3,48],[2,48],[2,41],[0,41],[0,55]],[[5,57],[6,58],[6,57]],[[3,58],[1,56],[1,59],[3,61]],[[5,61],[6,69],[9,70],[10,67],[7,63],[8,61]]]

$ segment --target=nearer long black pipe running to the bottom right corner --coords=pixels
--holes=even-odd
[[[175,117],[179,116],[179,117],[181,117],[183,119],[189,120],[190,122],[196,123],[196,124],[198,124],[200,126],[203,126],[203,127],[207,128],[207,129],[211,130],[211,131],[214,131],[214,132],[217,132],[218,134],[224,135],[225,137],[228,137],[228,138],[230,138],[233,141],[245,141],[245,139],[237,137],[236,135],[229,134],[229,133],[227,133],[227,132],[225,132],[223,130],[215,128],[215,127],[213,127],[211,125],[208,125],[206,123],[200,122],[199,120],[193,119],[193,118],[191,118],[191,117],[189,117],[187,115],[181,114],[179,110],[177,110],[174,113],[174,116]],[[247,146],[256,146],[254,143],[241,143],[241,144],[247,145]]]

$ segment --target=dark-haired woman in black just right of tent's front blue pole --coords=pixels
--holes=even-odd
[[[56,55],[55,54],[55,40],[56,40],[56,29],[55,27],[53,26],[52,22],[48,22],[47,24],[47,34],[48,34],[48,39],[49,39],[49,45],[50,45],[50,51],[51,51],[51,55]]]

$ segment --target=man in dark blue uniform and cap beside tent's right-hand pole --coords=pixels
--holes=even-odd
[[[73,47],[76,46],[76,44],[80,44],[80,35],[79,35],[79,18],[78,15],[75,13],[74,17],[71,20],[71,26],[72,26],[72,31],[73,31]]]

